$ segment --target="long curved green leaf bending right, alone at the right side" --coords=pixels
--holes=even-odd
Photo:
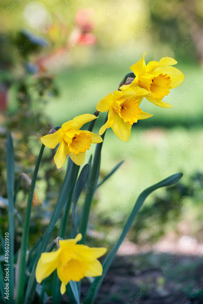
[[[100,281],[101,277],[103,277],[104,275],[106,275],[110,264],[112,263],[118,248],[121,246],[121,243],[123,242],[126,234],[128,233],[128,230],[130,229],[135,216],[137,214],[137,212],[139,211],[139,209],[142,207],[146,197],[152,193],[154,190],[161,188],[161,187],[166,187],[166,186],[171,186],[175,183],[177,183],[177,181],[180,180],[180,178],[183,176],[183,173],[177,173],[177,174],[173,174],[171,176],[169,176],[168,178],[164,179],[163,181],[160,181],[159,183],[145,189],[138,197],[137,201],[135,202],[135,206],[121,232],[121,235],[119,237],[119,239],[117,240],[116,244],[114,245],[114,247],[111,249],[110,253],[108,254],[108,256],[106,257],[105,261],[103,262],[103,274],[100,277],[96,277],[95,280],[93,281],[92,285],[89,288],[88,294],[91,294],[90,297],[88,299],[86,299],[83,304],[92,304],[95,296],[99,290],[99,288],[95,289],[94,286],[97,286],[98,282]]]

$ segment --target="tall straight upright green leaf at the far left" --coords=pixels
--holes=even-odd
[[[13,302],[13,289],[14,289],[14,149],[11,133],[7,135],[6,143],[6,170],[7,170],[7,195],[9,202],[9,298]]]

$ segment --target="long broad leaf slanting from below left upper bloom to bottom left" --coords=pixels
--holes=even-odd
[[[30,279],[28,281],[27,290],[26,290],[26,296],[25,296],[25,302],[28,300],[30,301],[30,304],[32,303],[32,300],[30,300],[30,295],[33,294],[35,291],[37,282],[35,278],[35,269],[37,267],[37,262],[39,261],[40,255],[42,252],[46,250],[46,247],[48,245],[49,239],[51,237],[51,234],[54,230],[55,224],[61,214],[61,211],[63,207],[65,206],[65,203],[68,201],[68,197],[70,195],[70,192],[72,191],[72,188],[74,187],[74,181],[78,173],[78,166],[71,161],[70,166],[68,167],[68,171],[66,172],[65,179],[63,182],[63,185],[61,187],[61,191],[58,197],[58,201],[56,204],[56,207],[54,209],[54,212],[52,214],[52,217],[50,219],[49,225],[47,227],[45,237],[43,239],[43,242],[38,250],[37,257],[35,259],[35,262],[33,264],[33,269],[30,274]]]

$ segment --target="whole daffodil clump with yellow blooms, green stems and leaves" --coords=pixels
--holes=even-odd
[[[177,63],[177,61],[173,58],[164,57],[159,60],[159,62],[150,61],[146,65],[144,56],[145,53],[136,64],[131,66],[131,78],[128,78],[127,74],[123,79],[122,85],[117,91],[103,97],[98,102],[95,115],[83,114],[77,116],[74,119],[64,123],[61,127],[52,129],[48,135],[41,138],[43,145],[40,150],[32,181],[26,174],[22,175],[30,187],[30,193],[26,207],[25,220],[23,223],[23,233],[20,248],[20,253],[22,254],[19,254],[17,262],[18,264],[16,267],[14,267],[14,255],[11,255],[10,262],[13,267],[11,266],[11,283],[9,289],[11,297],[16,299],[15,303],[20,304],[23,301],[30,301],[31,303],[32,301],[30,300],[30,295],[35,292],[37,282],[41,284],[45,278],[50,276],[54,270],[56,270],[53,275],[53,282],[55,282],[52,290],[53,303],[60,302],[59,295],[61,296],[61,294],[66,292],[66,285],[69,283],[69,299],[74,299],[73,301],[79,304],[80,285],[76,284],[76,282],[79,282],[84,277],[96,277],[89,288],[88,297],[86,297],[86,299],[83,301],[85,304],[92,304],[99,289],[98,287],[95,288],[95,286],[101,285],[98,283],[99,277],[107,273],[107,270],[113,261],[119,246],[124,240],[124,237],[130,229],[133,220],[147,195],[157,188],[173,185],[182,177],[181,173],[174,174],[142,192],[135,202],[135,206],[124,226],[121,236],[108,253],[102,266],[97,259],[103,256],[107,249],[90,248],[85,245],[85,239],[89,211],[98,182],[104,133],[107,128],[112,128],[114,134],[119,139],[127,141],[131,133],[132,125],[137,123],[138,119],[147,119],[152,116],[152,114],[145,113],[140,108],[143,98],[146,98],[149,102],[152,102],[159,107],[170,108],[172,106],[166,102],[163,102],[163,98],[164,96],[168,95],[171,88],[175,88],[180,85],[184,79],[183,74],[178,69],[171,67],[171,65]],[[127,78],[128,82],[126,83]],[[104,125],[101,126],[99,134],[93,133],[92,130],[94,122],[99,112],[107,111],[108,114],[106,121]],[[91,123],[88,130],[80,130],[85,123],[89,122]],[[7,142],[7,187],[9,189],[9,210],[12,214],[12,216],[9,217],[9,234],[14,235],[14,214],[12,213],[12,193],[14,192],[14,183],[10,182],[11,180],[14,181],[14,169],[12,166],[10,166],[11,158],[14,164],[14,152],[12,137],[10,134],[8,134]],[[86,150],[90,149],[92,143],[97,143],[93,161],[90,157],[89,162],[83,166],[78,177],[79,166],[83,164]],[[35,250],[32,251],[34,261],[30,262],[32,257],[30,252],[28,258],[26,257],[26,254],[23,253],[27,252],[28,248],[28,233],[32,204],[37,205],[38,203],[41,203],[35,192],[37,173],[43,155],[44,146],[54,149],[58,144],[59,147],[54,156],[54,161],[57,168],[61,168],[65,164],[65,160],[68,155],[69,160],[67,172],[46,233],[44,233],[44,235],[41,237]],[[110,172],[110,174],[108,174],[108,177],[110,177],[110,175],[117,170],[119,165],[117,165]],[[107,178],[105,178],[102,182],[106,180]],[[84,187],[86,188],[85,201],[80,215],[75,216],[75,206]],[[17,185],[17,189],[19,190],[19,185]],[[18,190],[16,190],[15,193],[17,193]],[[66,239],[68,217],[72,202],[72,229],[70,231],[72,238]],[[58,231],[58,237],[48,246],[54,226],[56,225],[60,216],[61,223]],[[14,240],[12,238],[10,238],[9,242],[10,248],[14,246]],[[79,244],[76,244],[77,242],[79,242]],[[58,249],[53,251],[55,245],[57,245]],[[14,274],[14,268],[16,268],[16,274]],[[14,277],[17,278],[17,287],[15,293],[14,288],[12,288]],[[26,282],[26,278],[28,282]],[[61,287],[59,287],[59,284]],[[1,290],[3,290],[3,285],[0,281],[0,292]],[[72,303],[71,300],[70,303]]]

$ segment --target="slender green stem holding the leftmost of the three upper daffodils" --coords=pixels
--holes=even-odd
[[[23,302],[24,285],[25,285],[25,267],[26,267],[25,260],[26,260],[26,249],[27,249],[28,237],[29,237],[30,215],[31,215],[31,211],[32,211],[32,201],[33,201],[33,194],[34,194],[34,190],[35,190],[35,183],[37,180],[37,173],[39,170],[40,161],[42,158],[44,147],[45,146],[42,144],[40,154],[37,159],[37,164],[34,169],[33,178],[32,178],[32,182],[30,185],[30,192],[29,192],[28,200],[27,200],[27,207],[26,207],[21,247],[20,247],[19,272],[18,272],[17,291],[16,291],[16,298],[17,298],[18,304]]]

